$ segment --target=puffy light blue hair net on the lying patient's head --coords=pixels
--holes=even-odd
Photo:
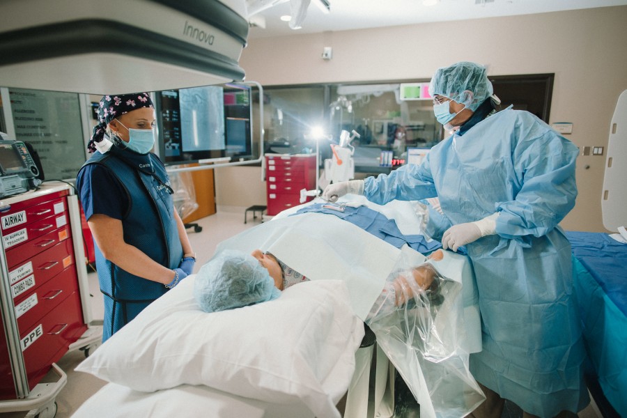
[[[224,311],[277,299],[281,291],[253,256],[225,249],[196,274],[194,297],[205,312]]]

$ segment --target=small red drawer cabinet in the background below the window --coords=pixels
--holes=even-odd
[[[300,190],[316,187],[316,155],[266,154],[265,180],[267,215],[300,205]]]

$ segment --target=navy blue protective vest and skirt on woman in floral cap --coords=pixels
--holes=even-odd
[[[152,153],[139,155],[113,146],[109,153],[94,153],[84,165],[87,164],[109,169],[127,192],[130,204],[122,219],[124,241],[157,263],[177,268],[183,258],[183,247],[169,194],[169,178],[159,158]],[[168,289],[122,270],[102,256],[98,245],[95,254],[100,291],[104,293],[103,341],[106,341]]]

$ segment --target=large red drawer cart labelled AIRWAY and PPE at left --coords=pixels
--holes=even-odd
[[[45,185],[0,203],[0,400],[25,398],[91,320],[77,196]]]

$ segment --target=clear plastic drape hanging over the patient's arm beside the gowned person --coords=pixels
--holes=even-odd
[[[461,284],[402,257],[366,323],[426,417],[464,417],[485,399],[468,369]]]

